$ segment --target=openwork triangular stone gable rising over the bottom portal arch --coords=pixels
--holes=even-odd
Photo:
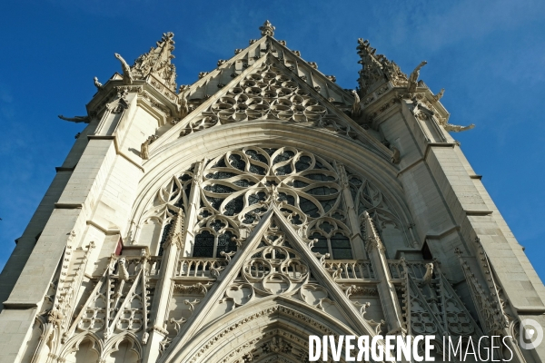
[[[222,253],[224,267],[213,273],[215,283],[177,329],[166,357],[191,348],[199,331],[222,326],[226,317],[243,314],[241,309],[257,309],[271,299],[293,301],[329,316],[346,332],[376,334],[362,310],[333,280],[336,271],[326,269],[325,256],[312,252],[312,241],[293,230],[286,213],[272,203],[239,250]]]

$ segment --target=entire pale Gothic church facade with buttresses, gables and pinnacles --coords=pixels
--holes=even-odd
[[[309,335],[510,336],[545,290],[441,93],[262,37],[179,89],[173,34],[97,93],[0,279],[0,362],[304,362]],[[509,358],[506,348],[495,357]],[[471,358],[471,356],[470,356]],[[344,361],[344,360],[342,360]]]

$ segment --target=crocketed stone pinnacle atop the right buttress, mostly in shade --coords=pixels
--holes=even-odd
[[[407,83],[407,74],[401,72],[399,65],[389,61],[384,55],[376,54],[368,40],[358,39],[358,54],[362,58],[358,63],[362,64],[360,71],[360,95],[363,96],[378,88],[382,83],[391,81],[394,85]]]

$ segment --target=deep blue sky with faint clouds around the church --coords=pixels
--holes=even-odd
[[[541,278],[545,277],[545,2],[543,1],[17,1],[0,13],[0,269],[83,126],[93,77],[120,70],[175,34],[178,84],[193,83],[218,59],[275,37],[354,88],[357,38],[370,39],[405,73],[427,60],[421,79]]]

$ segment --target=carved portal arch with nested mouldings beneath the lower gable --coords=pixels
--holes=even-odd
[[[309,335],[357,334],[338,319],[299,300],[271,296],[213,320],[182,347],[173,343],[159,362],[231,363],[244,356],[259,362],[276,355],[288,362],[300,362],[308,359]],[[277,347],[263,348],[267,344]]]

